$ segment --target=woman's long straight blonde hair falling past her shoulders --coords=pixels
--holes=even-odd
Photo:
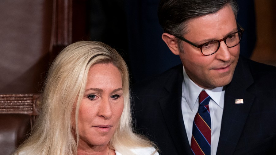
[[[99,63],[113,64],[122,77],[124,110],[119,126],[109,142],[110,147],[126,155],[133,154],[131,148],[156,147],[132,131],[129,76],[123,58],[115,49],[102,42],[79,41],[64,48],[52,63],[44,84],[41,111],[34,130],[14,154],[77,154],[79,131],[72,126],[78,126],[79,106],[88,71],[91,66]]]

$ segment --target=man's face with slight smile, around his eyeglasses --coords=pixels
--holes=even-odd
[[[237,31],[235,15],[231,6],[225,6],[215,14],[191,19],[188,32],[183,36],[196,45],[219,40]],[[228,48],[224,41],[216,53],[204,56],[200,48],[181,41],[179,52],[188,76],[198,86],[210,89],[225,86],[231,82],[240,54],[240,44]]]

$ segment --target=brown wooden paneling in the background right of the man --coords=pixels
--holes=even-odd
[[[276,1],[255,0],[257,43],[252,60],[276,66]]]

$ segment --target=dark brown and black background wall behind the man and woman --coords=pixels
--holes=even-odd
[[[0,93],[39,93],[49,64],[66,45],[103,41],[125,58],[131,82],[180,63],[161,39],[159,0],[2,0]],[[241,54],[276,64],[276,1],[238,0]],[[60,33],[62,35],[60,35]],[[255,42],[256,41],[256,42]]]

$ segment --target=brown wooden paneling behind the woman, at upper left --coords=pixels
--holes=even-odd
[[[1,0],[0,10],[0,93],[39,93],[72,43],[72,0]]]

